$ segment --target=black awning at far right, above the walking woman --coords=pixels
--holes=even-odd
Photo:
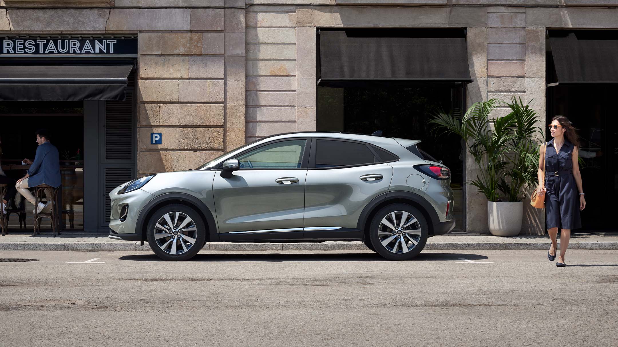
[[[618,83],[618,31],[551,30],[549,43],[560,85]]]

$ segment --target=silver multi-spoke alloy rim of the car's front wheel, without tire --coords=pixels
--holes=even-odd
[[[164,252],[183,254],[195,246],[197,226],[182,212],[167,212],[155,224],[155,241]]]

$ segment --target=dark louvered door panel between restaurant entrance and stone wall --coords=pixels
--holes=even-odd
[[[135,92],[127,89],[124,101],[105,101],[101,117],[99,153],[99,223],[107,228],[111,212],[109,192],[135,178]]]

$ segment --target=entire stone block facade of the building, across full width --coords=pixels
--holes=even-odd
[[[0,35],[138,35],[138,173],[194,168],[263,136],[316,128],[316,30],[466,28],[468,106],[511,96],[545,117],[546,28],[618,28],[616,1],[116,0],[0,2]],[[496,114],[504,114],[501,106]],[[164,134],[151,145],[150,132]],[[468,158],[466,174],[478,168]],[[468,232],[486,233],[467,187]],[[527,206],[527,204],[526,204]],[[527,209],[525,233],[541,232]]]

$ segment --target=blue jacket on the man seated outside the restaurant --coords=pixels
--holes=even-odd
[[[54,188],[61,185],[60,157],[58,149],[53,144],[46,142],[36,148],[35,160],[28,169],[28,186],[46,184]]]

